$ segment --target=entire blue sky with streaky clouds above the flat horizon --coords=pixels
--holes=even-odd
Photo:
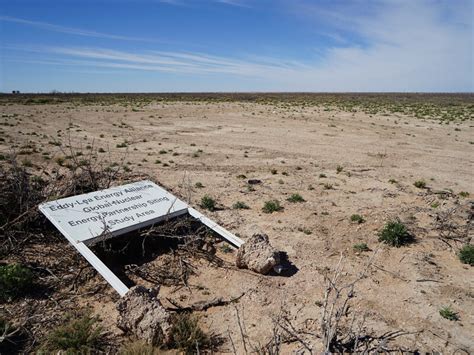
[[[0,91],[472,92],[472,0],[0,0]]]

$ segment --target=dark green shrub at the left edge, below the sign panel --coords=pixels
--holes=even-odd
[[[20,297],[33,287],[33,273],[20,264],[0,266],[0,301]]]

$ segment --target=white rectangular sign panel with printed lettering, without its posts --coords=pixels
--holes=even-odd
[[[188,205],[145,180],[46,202],[39,209],[71,243],[90,244],[187,213]]]

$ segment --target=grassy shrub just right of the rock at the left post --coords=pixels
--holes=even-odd
[[[175,316],[171,336],[174,347],[186,354],[194,354],[196,348],[202,350],[211,343],[209,336],[199,327],[198,318],[187,313]]]

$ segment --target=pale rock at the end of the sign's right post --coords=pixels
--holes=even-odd
[[[252,235],[237,252],[236,265],[259,274],[267,274],[280,263],[280,253],[270,245],[268,236],[263,233]]]

